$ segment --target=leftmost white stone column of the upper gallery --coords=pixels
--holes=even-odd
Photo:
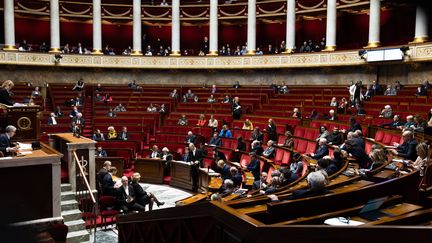
[[[3,50],[15,51],[15,16],[14,0],[4,0],[4,28],[5,28],[5,45]]]

